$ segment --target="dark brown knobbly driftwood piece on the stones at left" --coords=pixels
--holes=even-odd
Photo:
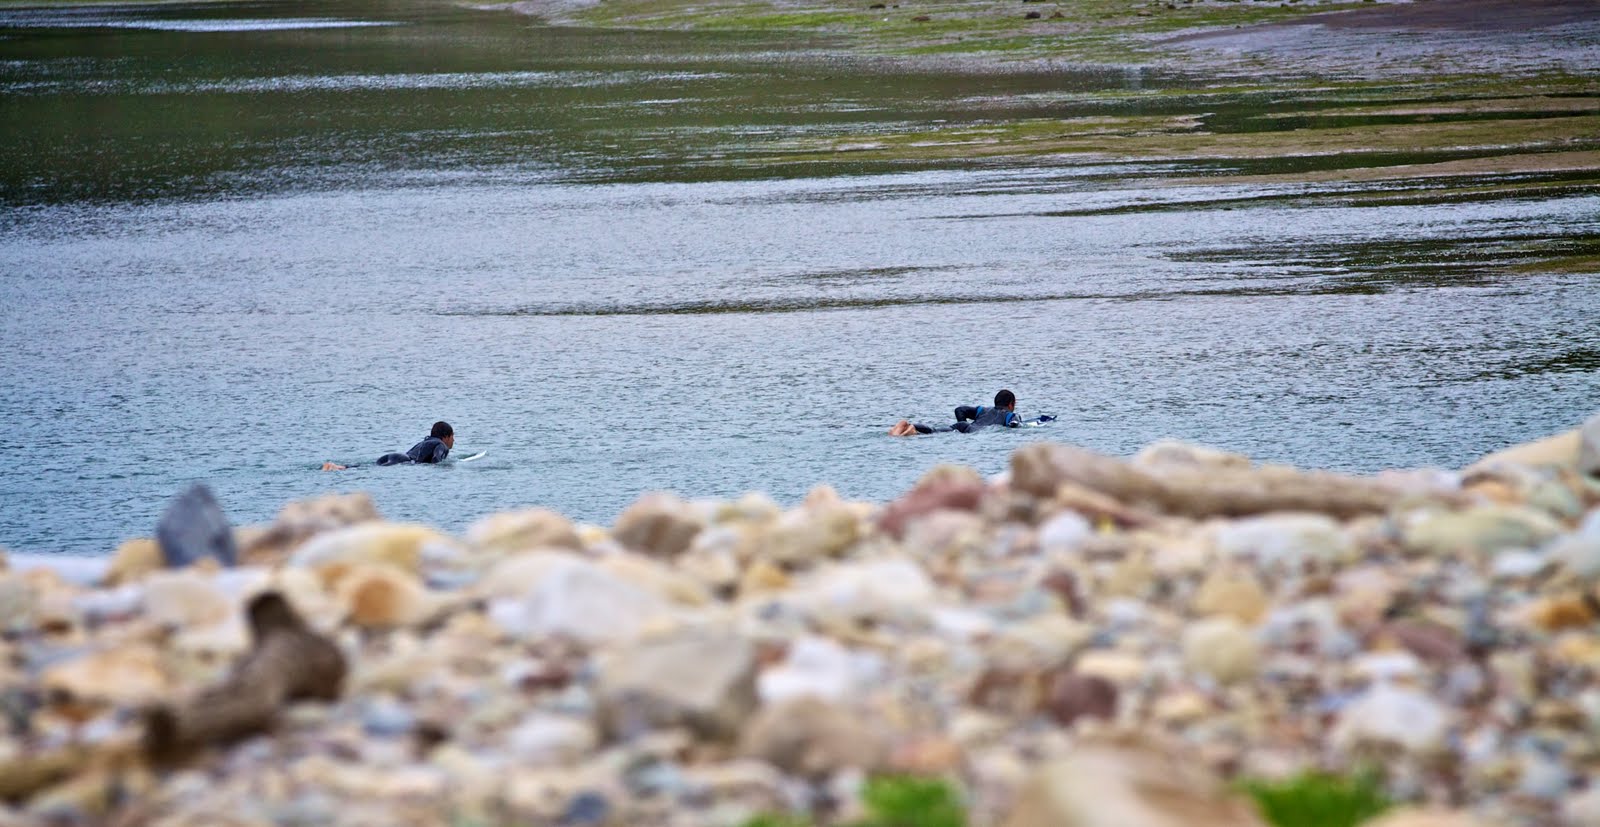
[[[251,651],[221,685],[182,707],[146,713],[144,753],[155,765],[195,750],[264,733],[294,701],[336,701],[344,686],[344,654],[275,592],[246,608]]]

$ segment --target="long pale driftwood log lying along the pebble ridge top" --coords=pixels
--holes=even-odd
[[[1171,467],[1157,475],[1117,457],[1054,443],[1029,445],[1011,454],[1011,485],[1040,497],[1056,496],[1062,485],[1088,488],[1136,510],[1194,518],[1280,510],[1350,518],[1382,513],[1402,497],[1376,480],[1330,472]]]

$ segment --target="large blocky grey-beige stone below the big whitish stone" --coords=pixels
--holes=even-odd
[[[595,691],[606,731],[619,737],[688,726],[726,739],[755,712],[755,672],[750,641],[683,635],[611,653]]]

